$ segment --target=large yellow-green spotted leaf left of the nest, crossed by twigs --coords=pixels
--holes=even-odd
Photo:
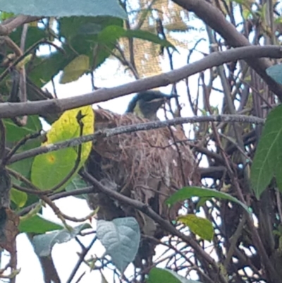
[[[80,107],[77,109],[64,112],[61,117],[51,126],[51,130],[47,133],[47,142],[44,145],[52,143],[58,143],[63,140],[71,138],[77,138],[80,135],[80,126],[76,119],[76,116],[81,111],[83,135],[94,133],[94,112],[91,106]],[[83,143],[80,164],[75,173],[79,171],[84,162],[87,160],[88,155],[92,149],[92,142]],[[42,191],[49,190],[58,185],[63,179],[68,176],[75,162],[78,158],[77,148],[64,148],[63,150],[57,150],[54,152],[48,152],[44,155],[37,155],[32,163],[31,180]],[[73,177],[72,176],[72,177]],[[63,189],[71,181],[68,179],[63,184]]]

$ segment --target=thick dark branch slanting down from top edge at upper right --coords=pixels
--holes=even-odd
[[[218,8],[212,6],[209,2],[204,0],[173,0],[173,2],[185,8],[185,10],[195,13],[204,23],[218,32],[231,47],[250,46],[249,40],[226,20]],[[248,56],[244,60],[264,79],[269,85],[269,89],[282,101],[282,85],[272,80],[265,72],[265,69],[271,66],[270,62],[265,59],[248,58]]]

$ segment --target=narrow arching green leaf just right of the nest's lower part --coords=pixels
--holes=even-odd
[[[247,212],[250,213],[247,205],[244,205],[237,198],[228,195],[228,193],[221,193],[219,191],[212,190],[210,188],[201,188],[201,187],[184,187],[181,188],[176,193],[173,193],[170,198],[166,200],[167,205],[173,205],[178,201],[187,200],[188,198],[199,197],[199,198],[221,198],[224,200],[231,200],[234,203],[241,205]]]

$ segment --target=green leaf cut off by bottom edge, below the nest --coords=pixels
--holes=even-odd
[[[200,281],[188,280],[176,272],[168,269],[153,267],[149,272],[148,283],[201,283]]]

